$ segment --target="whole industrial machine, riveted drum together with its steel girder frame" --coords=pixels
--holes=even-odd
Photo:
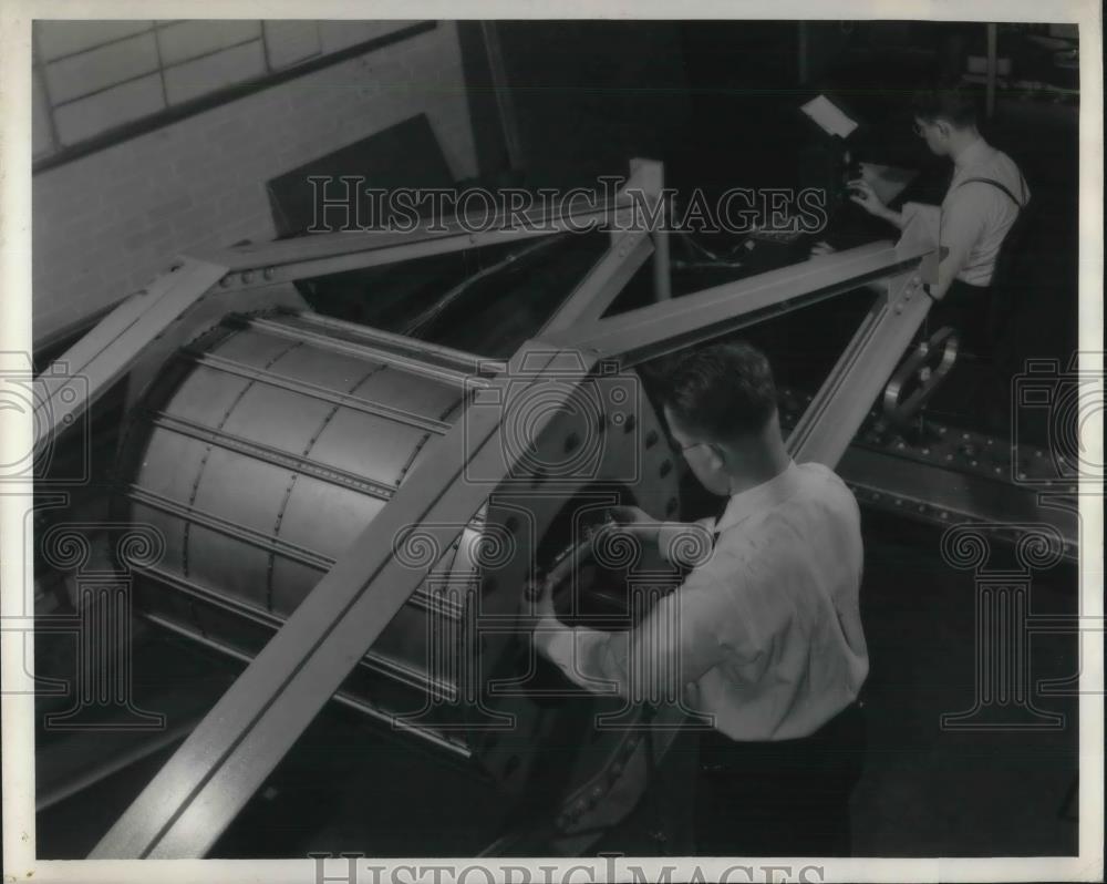
[[[563,574],[613,503],[686,511],[639,371],[683,348],[873,287],[820,388],[785,393],[793,455],[838,466],[865,503],[937,523],[1036,506],[980,470],[944,481],[948,462],[880,435],[952,358],[941,338],[897,373],[929,309],[931,244],[876,243],[673,297],[669,235],[634,198],[656,197],[660,165],[631,172],[613,203],[535,227],[499,218],[477,233],[424,225],[186,256],[39,376],[40,449],[97,421],[117,439],[104,484],[41,512],[53,552],[37,578],[64,575],[79,614],[89,573],[126,587],[83,627],[91,643],[141,615],[249,662],[93,859],[206,855],[332,699],[494,798],[503,825],[475,850],[569,855],[623,821],[684,713],[552,681],[529,643],[528,588]],[[611,225],[606,250],[507,359],[322,315],[293,285],[588,219]],[[609,312],[651,259],[654,301]],[[1075,555],[1069,516],[1053,517]],[[66,558],[74,535],[81,553]],[[590,607],[575,616],[625,628],[641,607],[633,565],[590,567]]]

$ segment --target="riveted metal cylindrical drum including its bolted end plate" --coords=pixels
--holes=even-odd
[[[489,482],[488,494],[457,538],[436,547],[434,526],[396,538],[421,585],[338,696],[478,754],[498,780],[525,777],[546,727],[535,722],[557,715],[525,685],[487,690],[493,679],[519,682],[532,665],[520,640],[529,628],[513,637],[509,627],[525,616],[536,563],[612,503],[658,516],[677,508],[673,452],[637,378],[601,371],[565,397],[560,363],[546,362],[542,382],[520,383],[530,398],[504,420],[515,465],[504,481],[466,476]],[[425,459],[459,455],[443,450],[456,422],[505,407],[482,398],[514,395],[513,384],[489,388],[503,368],[310,312],[225,319],[176,352],[130,417],[117,514],[165,539],[141,575],[138,608],[254,657]],[[559,414],[535,445],[519,424],[554,402]]]

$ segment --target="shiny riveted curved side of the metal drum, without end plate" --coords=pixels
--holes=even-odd
[[[256,651],[242,627],[279,627],[449,429],[472,361],[368,336],[323,317],[255,318],[178,353],[120,471],[130,518],[165,537],[146,576],[177,590],[143,594],[153,616]],[[472,572],[479,536],[478,516],[437,567]],[[404,705],[401,687],[456,689],[425,661],[427,637],[453,646],[459,623],[421,587],[362,664],[393,688],[381,708]]]

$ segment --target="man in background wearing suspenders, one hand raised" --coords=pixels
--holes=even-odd
[[[965,342],[985,343],[987,287],[1000,247],[1030,201],[1030,189],[1015,162],[997,151],[976,129],[973,97],[958,89],[925,90],[914,96],[914,131],[939,156],[953,161],[953,177],[941,207],[907,203],[889,209],[863,181],[852,181],[850,197],[867,212],[903,229],[920,213],[938,215],[939,241],[949,254],[929,287],[939,304],[931,311],[951,321]]]

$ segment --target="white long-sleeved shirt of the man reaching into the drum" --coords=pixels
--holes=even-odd
[[[717,534],[713,552],[633,630],[570,629],[547,616],[535,643],[589,690],[682,698],[732,739],[808,736],[857,697],[869,670],[857,501],[826,466],[789,462],[712,523],[699,526]],[[675,558],[690,528],[662,528],[662,554]]]

